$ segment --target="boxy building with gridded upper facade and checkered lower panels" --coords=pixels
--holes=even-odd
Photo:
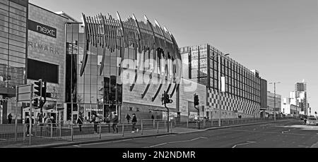
[[[180,53],[185,65],[182,77],[206,85],[206,116],[219,118],[218,70],[220,76],[225,77],[225,93],[221,93],[220,99],[221,118],[260,116],[261,77],[256,70],[245,68],[209,44],[182,47]]]

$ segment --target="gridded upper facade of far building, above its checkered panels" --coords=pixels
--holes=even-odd
[[[189,66],[190,80],[218,90],[218,70],[220,68],[221,77],[225,77],[225,93],[247,101],[261,103],[261,78],[232,58],[224,56],[218,49],[204,44],[183,47],[180,49],[180,53],[182,58],[187,58],[187,63],[184,63],[184,60],[182,62]],[[220,67],[218,67],[218,59],[220,59]]]

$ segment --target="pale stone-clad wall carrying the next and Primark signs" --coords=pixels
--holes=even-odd
[[[59,104],[62,104],[65,99],[65,23],[68,20],[33,4],[29,4],[29,20],[57,29],[57,38],[28,30],[28,58],[59,66],[59,84],[47,83],[47,92],[57,93]],[[30,83],[34,80],[28,80]]]

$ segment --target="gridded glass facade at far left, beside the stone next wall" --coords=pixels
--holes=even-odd
[[[0,0],[0,87],[25,84],[27,13],[27,5]]]

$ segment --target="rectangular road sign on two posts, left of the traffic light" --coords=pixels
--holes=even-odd
[[[30,103],[30,141],[31,144],[31,136],[32,136],[32,99],[33,99],[33,85],[20,85],[16,86],[16,140],[18,139],[18,102],[25,101]]]

